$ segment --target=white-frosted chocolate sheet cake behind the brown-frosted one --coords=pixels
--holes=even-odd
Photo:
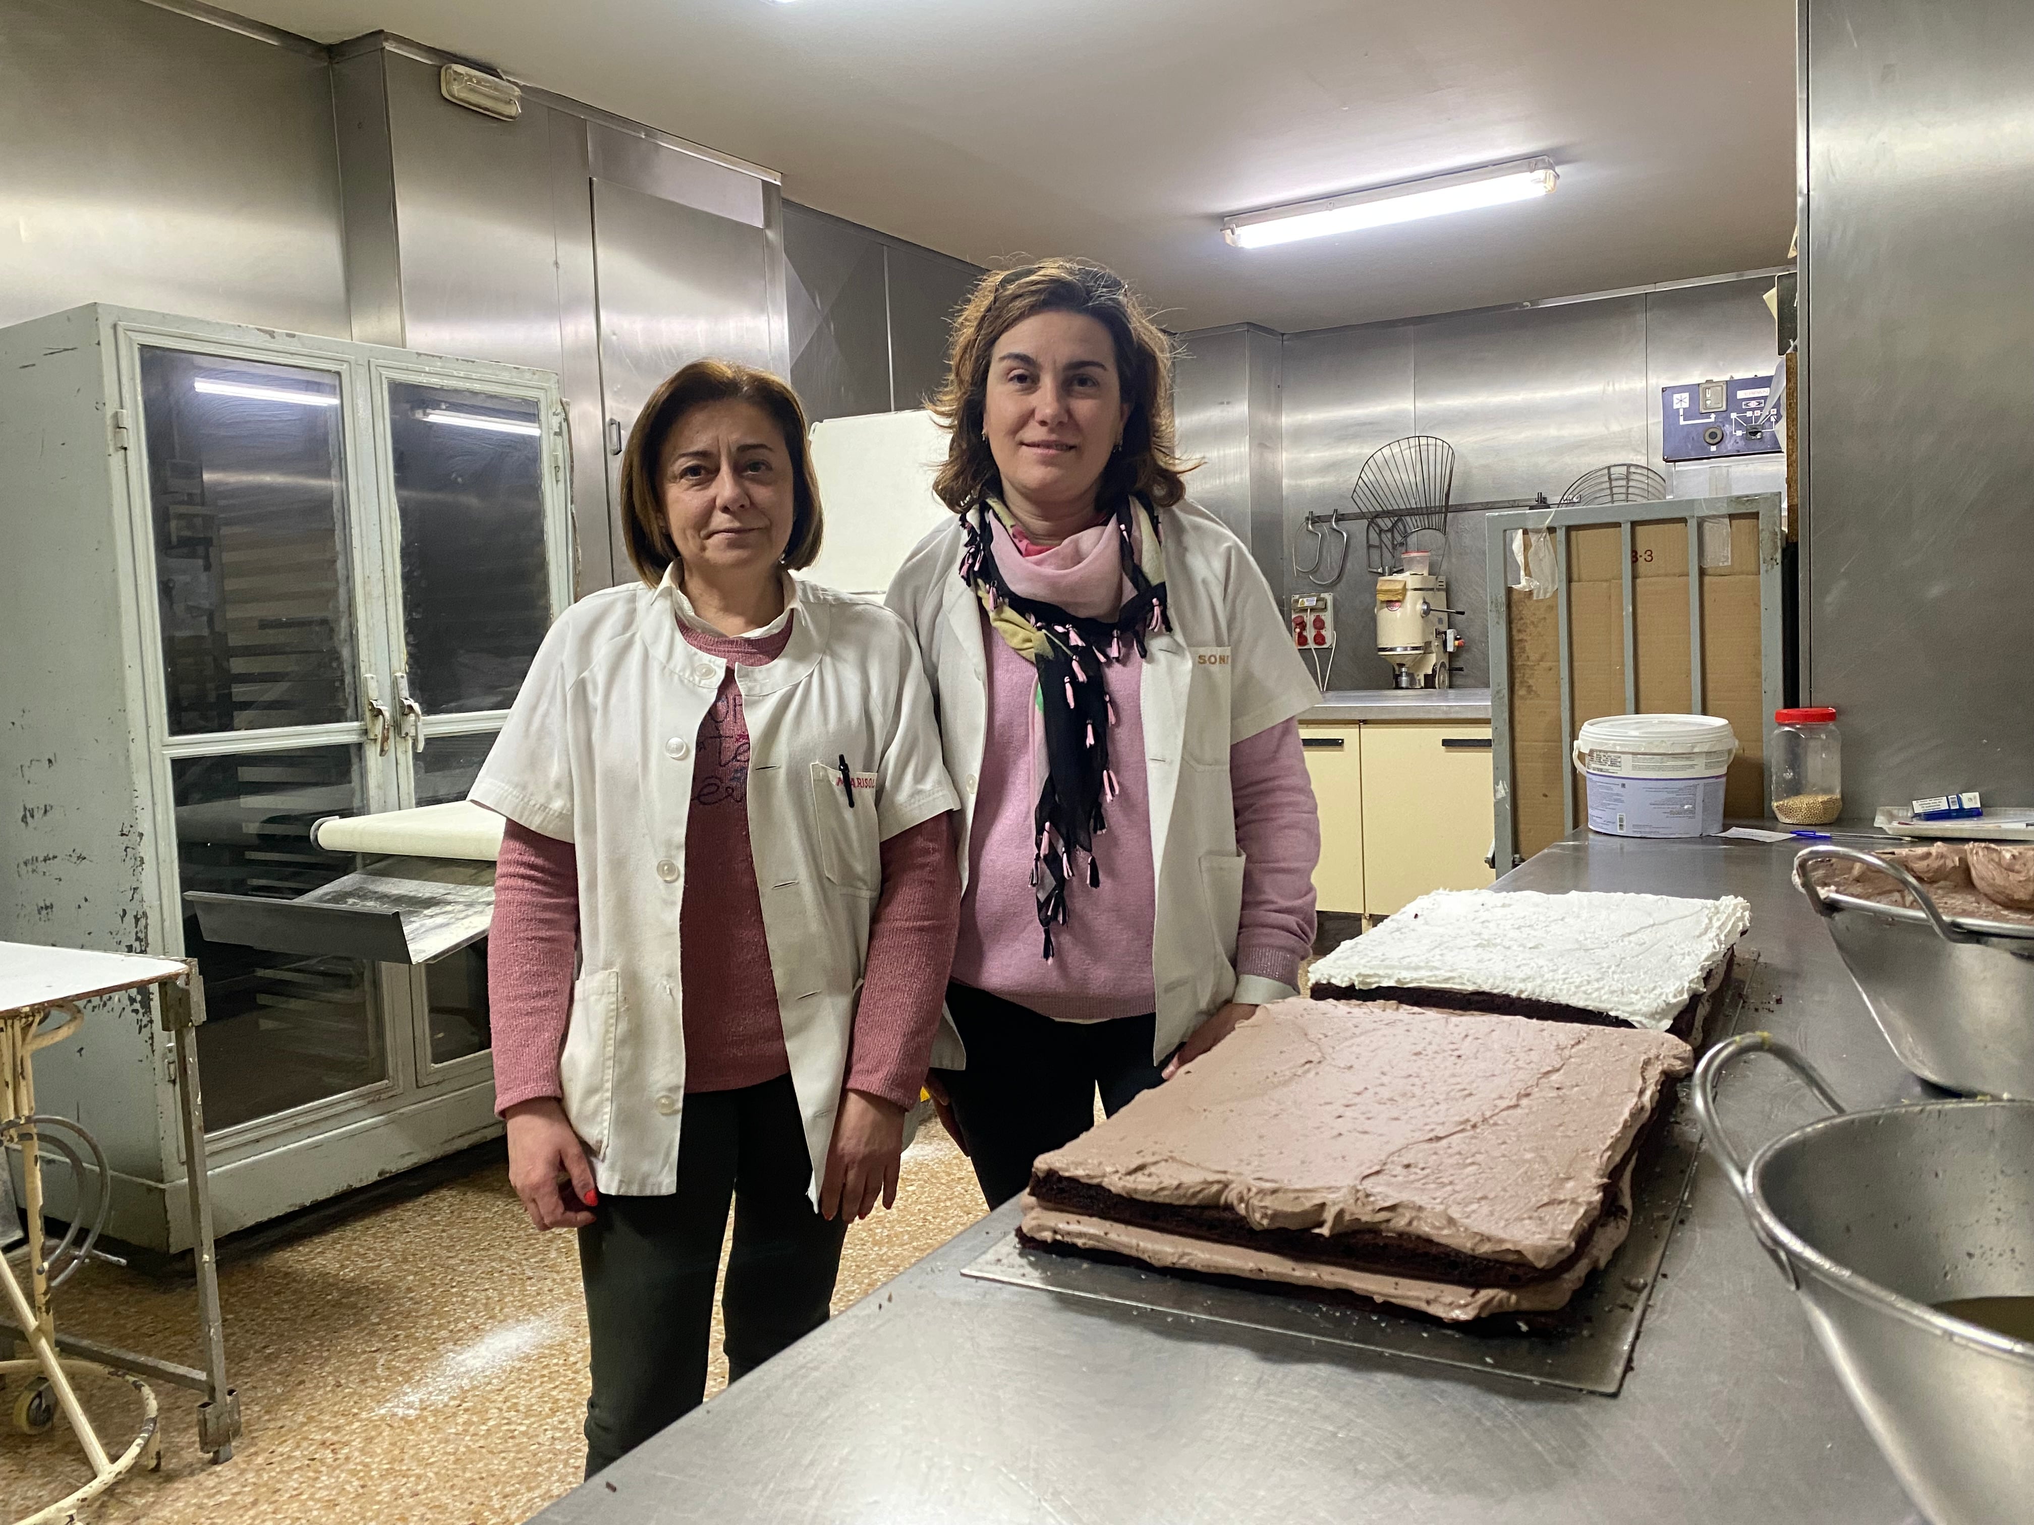
[[[1694,1037],[1751,925],[1735,895],[1434,891],[1314,962],[1312,994]]]

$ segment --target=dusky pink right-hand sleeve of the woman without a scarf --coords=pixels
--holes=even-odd
[[[899,1106],[917,1100],[958,933],[960,864],[950,815],[934,815],[883,844],[883,899],[869,927],[848,1090]]]

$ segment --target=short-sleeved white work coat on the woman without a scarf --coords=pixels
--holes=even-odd
[[[791,636],[736,667],[749,846],[818,1200],[846,1076],[881,844],[958,801],[932,693],[889,610],[785,577]],[[472,799],[578,848],[580,972],[565,1116],[616,1196],[677,1190],[685,1106],[679,905],[694,742],[726,663],[685,645],[663,584],[588,594],[531,663]],[[852,775],[852,805],[840,760]]]

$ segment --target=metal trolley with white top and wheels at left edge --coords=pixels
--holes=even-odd
[[[35,1110],[35,1053],[61,1043],[85,1025],[77,1002],[126,990],[161,988],[159,1019],[171,1037],[177,1070],[177,1114],[183,1133],[185,1179],[191,1212],[191,1263],[197,1271],[197,1324],[203,1368],[179,1366],[134,1350],[120,1350],[57,1332],[51,1291],[98,1253],[106,1226],[112,1181],[98,1141],[73,1118]],[[24,1342],[24,1360],[0,1360],[0,1375],[26,1377],[12,1403],[18,1429],[47,1429],[57,1413],[71,1425],[92,1480],[20,1525],[69,1521],[77,1509],[134,1470],[161,1460],[155,1393],[146,1377],[203,1395],[197,1407],[197,1444],[226,1462],[240,1434],[240,1399],[226,1385],[226,1338],[220,1326],[220,1275],[212,1250],[212,1192],[205,1179],[205,1116],[197,1080],[197,1027],[205,1021],[205,994],[197,964],[181,958],[94,954],[71,948],[0,943],[0,1143],[20,1151],[26,1244],[0,1259],[0,1293],[12,1328],[0,1340]],[[73,1222],[51,1244],[43,1230],[43,1151],[61,1157],[77,1177]],[[4,1165],[4,1161],[0,1161]],[[6,1181],[10,1185],[10,1181]],[[92,1202],[89,1210],[85,1204]],[[0,1224],[12,1228],[12,1224]],[[112,1257],[102,1257],[112,1259]],[[20,1263],[16,1269],[16,1261]],[[142,1421],[118,1456],[104,1442],[77,1401],[71,1377],[104,1372],[134,1385]]]

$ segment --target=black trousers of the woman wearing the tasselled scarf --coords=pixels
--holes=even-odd
[[[968,1068],[942,1070],[940,1080],[991,1208],[1023,1192],[1033,1159],[1094,1126],[1096,1092],[1115,1116],[1159,1082],[1151,1015],[1056,1023],[968,984],[946,986],[946,1009]]]

